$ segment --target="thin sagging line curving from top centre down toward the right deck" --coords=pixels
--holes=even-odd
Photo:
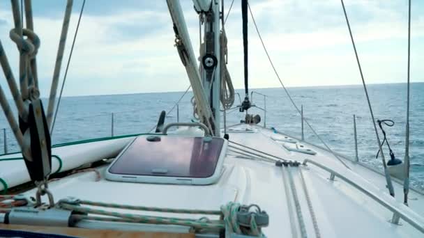
[[[248,3],[248,8],[249,8],[249,11],[250,11],[250,16],[252,17],[253,24],[255,25],[255,29],[256,29],[257,35],[259,36],[259,40],[261,40],[262,47],[264,48],[265,54],[268,57],[269,63],[271,64],[271,68],[273,68],[273,70],[275,72],[275,76],[277,77],[278,81],[280,81],[280,84],[281,84],[282,88],[285,90],[285,93],[287,94],[287,97],[289,97],[290,102],[292,102],[292,104],[293,104],[294,108],[296,109],[296,111],[298,111],[298,113],[301,115],[301,110],[298,108],[298,106],[296,106],[296,103],[294,103],[294,100],[293,100],[292,96],[290,95],[289,90],[287,90],[287,88],[285,87],[285,85],[282,83],[282,80],[280,78],[280,75],[278,74],[278,72],[275,69],[275,66],[273,64],[273,61],[271,60],[271,56],[269,56],[269,54],[268,54],[268,50],[265,47],[264,40],[262,40],[261,33],[259,33],[259,29],[257,27],[256,21],[255,21],[255,17],[253,17],[252,9],[250,9],[250,4],[249,3]],[[346,168],[349,168],[349,166],[347,166],[347,164],[344,161],[342,161],[342,159],[340,159],[340,157],[338,157],[338,155],[335,154],[335,152],[333,152],[333,150],[331,150],[331,148],[327,145],[327,143],[325,143],[325,141],[321,138],[321,136],[319,136],[317,134],[317,132],[315,132],[315,129],[312,127],[312,125],[310,125],[310,123],[308,122],[308,120],[306,120],[305,118],[303,118],[303,121],[311,129],[312,133],[315,134],[315,136],[317,136],[317,138],[319,139],[319,141],[321,141],[321,143],[323,143],[325,145],[325,147],[327,148],[327,150],[330,151],[334,155],[334,157],[336,159],[338,159],[340,161],[340,163],[342,163]],[[351,169],[351,168],[349,168],[349,169]]]

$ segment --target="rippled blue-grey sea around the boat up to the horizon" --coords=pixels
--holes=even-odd
[[[301,116],[289,102],[282,88],[252,89],[268,95],[266,98],[266,125],[293,136],[301,136]],[[237,90],[243,95],[243,90]],[[303,105],[305,118],[315,131],[335,151],[354,157],[354,125],[356,115],[359,159],[381,169],[381,159],[375,158],[378,150],[368,104],[362,86],[326,86],[289,88],[294,102]],[[370,100],[377,119],[391,119],[393,127],[385,127],[388,141],[396,157],[403,159],[406,121],[406,84],[376,84],[368,86]],[[410,157],[411,183],[424,189],[424,83],[411,84]],[[86,138],[149,132],[156,125],[160,111],[168,111],[183,93],[143,93],[130,95],[101,95],[64,97],[54,128],[53,143],[77,141]],[[179,104],[180,121],[192,119],[189,92]],[[253,95],[253,102],[264,107],[264,97]],[[12,102],[10,102],[12,104]],[[239,104],[239,99],[236,103]],[[47,108],[47,103],[45,103]],[[264,122],[264,113],[258,113]],[[238,123],[243,114],[227,111],[227,125]],[[176,122],[176,109],[167,115],[165,122]],[[223,124],[222,124],[223,125]],[[8,152],[17,145],[3,113],[0,129],[5,127]],[[305,140],[317,144],[312,131],[305,125]],[[380,138],[383,136],[380,132]],[[384,145],[385,154],[388,150]],[[0,134],[0,154],[3,153],[3,136]],[[386,158],[388,159],[388,158]]]

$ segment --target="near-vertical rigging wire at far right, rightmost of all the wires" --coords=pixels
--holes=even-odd
[[[404,156],[404,170],[405,178],[403,182],[404,205],[408,205],[409,193],[409,69],[411,62],[411,0],[408,1],[408,86],[407,86],[407,128],[405,132],[405,156]]]

